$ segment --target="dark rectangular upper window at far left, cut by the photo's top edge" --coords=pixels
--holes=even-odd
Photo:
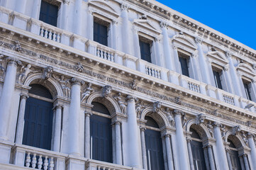
[[[39,20],[52,26],[57,26],[57,12],[58,6],[42,1]]]

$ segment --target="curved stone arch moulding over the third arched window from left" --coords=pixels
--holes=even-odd
[[[148,107],[145,108],[143,110],[143,112],[141,113],[141,119],[145,120],[145,116],[150,116],[151,118],[153,118],[158,125],[160,126],[160,128],[167,126],[170,127],[169,122],[167,120],[167,117],[165,116],[165,113],[162,113],[162,111],[159,111],[158,113],[154,113],[153,112],[153,108],[152,107]]]

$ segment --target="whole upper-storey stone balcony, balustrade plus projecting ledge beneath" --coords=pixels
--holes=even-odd
[[[69,55],[82,57],[82,60],[94,60],[96,63],[103,63],[105,66],[116,67],[121,72],[142,77],[146,83],[161,84],[165,88],[168,86],[169,89],[177,89],[193,98],[201,98],[206,103],[214,103],[214,105],[220,107],[225,102],[226,106],[223,106],[224,108],[235,110],[236,113],[246,112],[253,118],[255,116],[256,103],[252,101],[114,50],[111,47],[106,47],[67,30],[50,26],[16,11],[10,11],[2,6],[0,6],[0,21],[2,31],[9,30],[12,33],[27,37],[28,40],[35,40],[38,43],[44,43],[45,46],[49,45],[52,48],[65,50]],[[94,57],[89,57],[89,54]],[[246,108],[250,104],[254,107]]]

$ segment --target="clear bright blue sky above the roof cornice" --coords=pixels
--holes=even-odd
[[[256,50],[256,0],[157,0]]]

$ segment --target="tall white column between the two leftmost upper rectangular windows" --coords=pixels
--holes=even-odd
[[[74,2],[74,33],[77,35],[82,34],[82,0],[75,0]]]

